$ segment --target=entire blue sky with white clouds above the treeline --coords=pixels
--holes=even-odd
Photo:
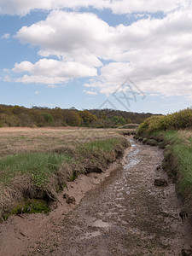
[[[0,104],[192,106],[192,0],[0,0]]]

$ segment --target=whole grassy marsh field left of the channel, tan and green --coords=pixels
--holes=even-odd
[[[15,212],[18,203],[27,208],[24,199],[27,204],[34,199],[55,200],[67,181],[80,173],[104,171],[129,145],[120,133],[114,129],[0,129],[0,217]]]

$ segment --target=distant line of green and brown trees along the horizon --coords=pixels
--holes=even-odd
[[[0,127],[6,126],[84,126],[119,127],[140,124],[152,113],[132,113],[113,109],[78,110],[76,108],[46,108],[0,105]]]

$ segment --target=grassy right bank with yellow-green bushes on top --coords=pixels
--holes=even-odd
[[[177,184],[184,211],[192,213],[192,109],[153,116],[139,126],[137,137],[153,138],[166,145],[163,167]]]

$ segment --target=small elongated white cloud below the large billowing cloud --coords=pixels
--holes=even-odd
[[[41,59],[34,64],[30,61],[15,63],[12,71],[28,73],[22,78],[16,79],[17,82],[36,84],[61,84],[68,79],[92,77],[96,76],[97,73],[96,68],[87,67],[79,62],[64,62],[53,59]]]

